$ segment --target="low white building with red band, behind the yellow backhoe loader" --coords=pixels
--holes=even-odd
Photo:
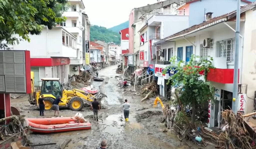
[[[61,26],[49,30],[45,27],[40,35],[30,35],[30,42],[23,41],[13,46],[14,50],[29,50],[31,71],[35,74],[35,86],[45,77],[68,80],[69,58],[77,57],[77,38]]]

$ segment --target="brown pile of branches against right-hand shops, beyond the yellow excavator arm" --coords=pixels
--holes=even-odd
[[[142,86],[140,93],[141,96],[144,97],[141,101],[144,101],[150,97],[156,97],[158,94],[157,81],[152,80],[150,83],[147,83],[144,86]]]

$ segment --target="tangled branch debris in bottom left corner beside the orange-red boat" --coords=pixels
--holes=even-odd
[[[31,145],[30,141],[28,140],[28,136],[24,130],[25,127],[28,127],[28,124],[26,124],[26,121],[24,117],[22,116],[10,116],[3,119],[0,119],[0,123],[5,120],[11,120],[11,122],[8,125],[3,125],[0,127],[0,139],[6,140],[12,137],[13,135],[16,136],[16,138],[22,137],[25,146]]]

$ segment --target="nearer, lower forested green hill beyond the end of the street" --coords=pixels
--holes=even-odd
[[[94,41],[95,39],[120,44],[121,37],[117,32],[106,29],[102,26],[94,25],[90,27],[90,40]]]

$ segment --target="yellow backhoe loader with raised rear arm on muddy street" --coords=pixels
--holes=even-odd
[[[60,97],[61,101],[63,101],[59,103],[59,106],[68,107],[73,111],[80,111],[84,107],[84,101],[92,102],[96,98],[100,102],[103,97],[107,97],[100,92],[92,95],[80,89],[63,89],[59,78],[41,78],[41,81],[41,90],[36,92],[34,88],[34,72],[31,72],[31,94],[29,95],[29,102],[31,105],[38,106],[39,97],[44,95],[45,110],[52,108],[53,101],[57,97]]]

